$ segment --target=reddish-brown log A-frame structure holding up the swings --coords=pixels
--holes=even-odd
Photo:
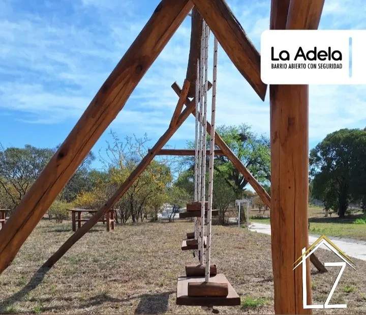
[[[324,0],[271,0],[270,28],[316,29]],[[193,10],[192,10],[193,9]],[[264,100],[266,85],[260,79],[260,54],[224,0],[162,0],[140,34],[102,85],[92,102],[29,189],[0,231],[0,272],[12,262],[21,245],[41,220],[78,165],[92,149],[156,60],[180,23],[192,10],[191,50],[187,76],[171,123],[129,178],[105,205],[77,230],[45,263],[52,266],[98,219],[118,201],[153,160],[196,106],[193,97],[199,34],[205,19],[239,72]],[[182,107],[186,107],[182,110]],[[234,155],[219,134],[216,144],[271,209],[272,268],[276,313],[310,313],[302,308],[301,270],[291,266],[308,247],[308,85],[270,87],[271,198]],[[207,123],[210,132],[210,124]],[[310,281],[307,268],[307,281]],[[311,286],[308,285],[308,304]]]

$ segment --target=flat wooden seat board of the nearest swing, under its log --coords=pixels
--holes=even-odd
[[[218,283],[227,283],[229,294],[226,297],[189,297],[188,282],[203,282],[204,277],[186,277],[178,276],[176,304],[189,306],[234,306],[240,305],[240,297],[235,292],[232,285],[223,273],[210,277],[210,281]]]

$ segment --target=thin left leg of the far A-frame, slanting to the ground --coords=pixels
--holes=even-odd
[[[105,213],[112,209],[114,204],[126,193],[126,191],[133,185],[136,179],[141,175],[148,164],[154,159],[156,154],[164,147],[166,142],[171,138],[174,132],[185,122],[189,114],[195,110],[195,100],[189,101],[188,106],[180,114],[177,124],[169,126],[167,131],[159,138],[153,149],[141,160],[141,162],[132,171],[126,181],[113,193],[112,197],[105,203],[105,205],[96,212],[84,225],[82,225],[69,239],[47,260],[45,267],[52,267],[69,249],[73,246],[90,228],[92,228],[98,220],[103,217]]]

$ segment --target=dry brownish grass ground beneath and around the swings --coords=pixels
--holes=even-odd
[[[40,266],[72,231],[70,221],[43,220],[0,276],[0,313],[206,313],[175,305],[177,275],[196,262],[180,250],[191,230],[191,222],[179,221],[116,226],[107,233],[99,223],[47,271]],[[236,226],[214,226],[213,233],[212,263],[242,300],[241,306],[217,309],[273,313],[270,237]],[[322,249],[317,255],[322,262],[339,260]],[[326,313],[366,313],[366,263],[355,263],[358,272],[346,268],[331,300],[348,308]],[[312,269],[315,302],[324,303],[338,270]]]

